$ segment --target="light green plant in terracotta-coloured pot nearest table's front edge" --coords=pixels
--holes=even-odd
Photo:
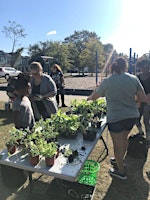
[[[42,150],[42,155],[45,157],[47,166],[53,166],[57,154],[57,145],[54,142],[47,143]]]

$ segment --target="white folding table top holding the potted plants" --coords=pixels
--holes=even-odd
[[[16,153],[8,156],[8,152],[5,149],[0,152],[0,164],[31,172],[39,172],[72,182],[76,181],[84,162],[87,160],[89,154],[95,147],[105,127],[106,117],[102,119],[101,128],[98,130],[96,134],[96,139],[94,141],[83,140],[83,136],[81,134],[78,134],[76,139],[59,139],[58,142],[59,144],[61,144],[60,148],[69,147],[73,150],[78,151],[79,155],[77,158],[74,159],[72,163],[69,163],[68,159],[65,158],[63,154],[60,154],[59,157],[56,159],[54,166],[52,167],[47,167],[45,165],[44,158],[41,158],[40,162],[36,166],[32,166],[28,160],[28,154],[24,154],[23,151],[18,150]],[[83,146],[85,147],[84,151],[81,150],[81,147]]]

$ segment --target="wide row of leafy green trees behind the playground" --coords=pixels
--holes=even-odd
[[[106,54],[109,56],[111,48],[113,48],[113,45],[103,45],[100,37],[95,32],[75,31],[72,35],[66,37],[63,42],[40,41],[30,45],[28,53],[31,59],[29,63],[39,61],[45,71],[48,71],[48,66],[41,58],[44,55],[54,57],[54,60],[50,60],[49,64],[59,64],[64,72],[73,67],[78,68],[78,71],[82,73],[84,73],[85,67],[94,72],[96,51],[98,52],[98,66],[102,68],[106,61]]]

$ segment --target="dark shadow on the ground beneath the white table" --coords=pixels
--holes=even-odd
[[[10,168],[10,170],[12,169]],[[1,180],[2,173],[3,171],[1,170]],[[12,183],[0,181],[0,200],[91,200],[93,198],[95,190],[93,186],[81,185],[51,177],[47,180],[47,176],[45,176],[45,182],[44,176],[36,174],[35,178],[35,174],[33,173],[32,175],[32,184],[29,184],[28,179],[20,181],[19,177],[21,178],[22,174],[19,176],[15,175],[14,179],[11,177],[11,180],[9,180]]]

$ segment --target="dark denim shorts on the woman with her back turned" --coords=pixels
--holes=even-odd
[[[137,118],[129,118],[114,123],[107,123],[108,130],[112,133],[120,133],[122,131],[130,131],[135,125]]]

